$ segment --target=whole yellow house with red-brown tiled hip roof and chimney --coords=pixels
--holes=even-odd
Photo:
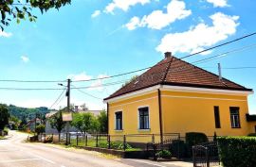
[[[165,58],[104,101],[110,135],[203,132],[241,136],[247,122],[247,89],[165,53]],[[138,139],[137,139],[138,140]]]

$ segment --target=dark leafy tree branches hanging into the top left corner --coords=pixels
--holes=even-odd
[[[49,8],[61,8],[70,4],[71,0],[1,0],[0,1],[0,28],[3,31],[4,26],[8,26],[12,19],[20,20],[28,18],[30,22],[35,22],[37,17],[31,14],[32,8],[39,8],[46,12]]]

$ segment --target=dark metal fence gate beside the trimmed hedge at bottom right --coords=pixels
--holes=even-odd
[[[205,142],[192,146],[193,167],[210,167],[220,164],[217,142]]]

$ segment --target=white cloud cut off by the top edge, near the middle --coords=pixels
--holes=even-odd
[[[107,5],[104,12],[113,13],[116,8],[127,11],[132,6],[136,6],[137,4],[145,5],[147,3],[150,3],[150,0],[113,0]]]

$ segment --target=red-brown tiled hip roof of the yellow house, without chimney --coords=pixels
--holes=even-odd
[[[114,92],[112,95],[105,98],[105,100],[158,84],[233,91],[252,91],[226,78],[220,80],[218,75],[214,75],[179,58],[169,57],[158,62],[144,74],[137,76],[137,79],[120,88],[119,91]]]

